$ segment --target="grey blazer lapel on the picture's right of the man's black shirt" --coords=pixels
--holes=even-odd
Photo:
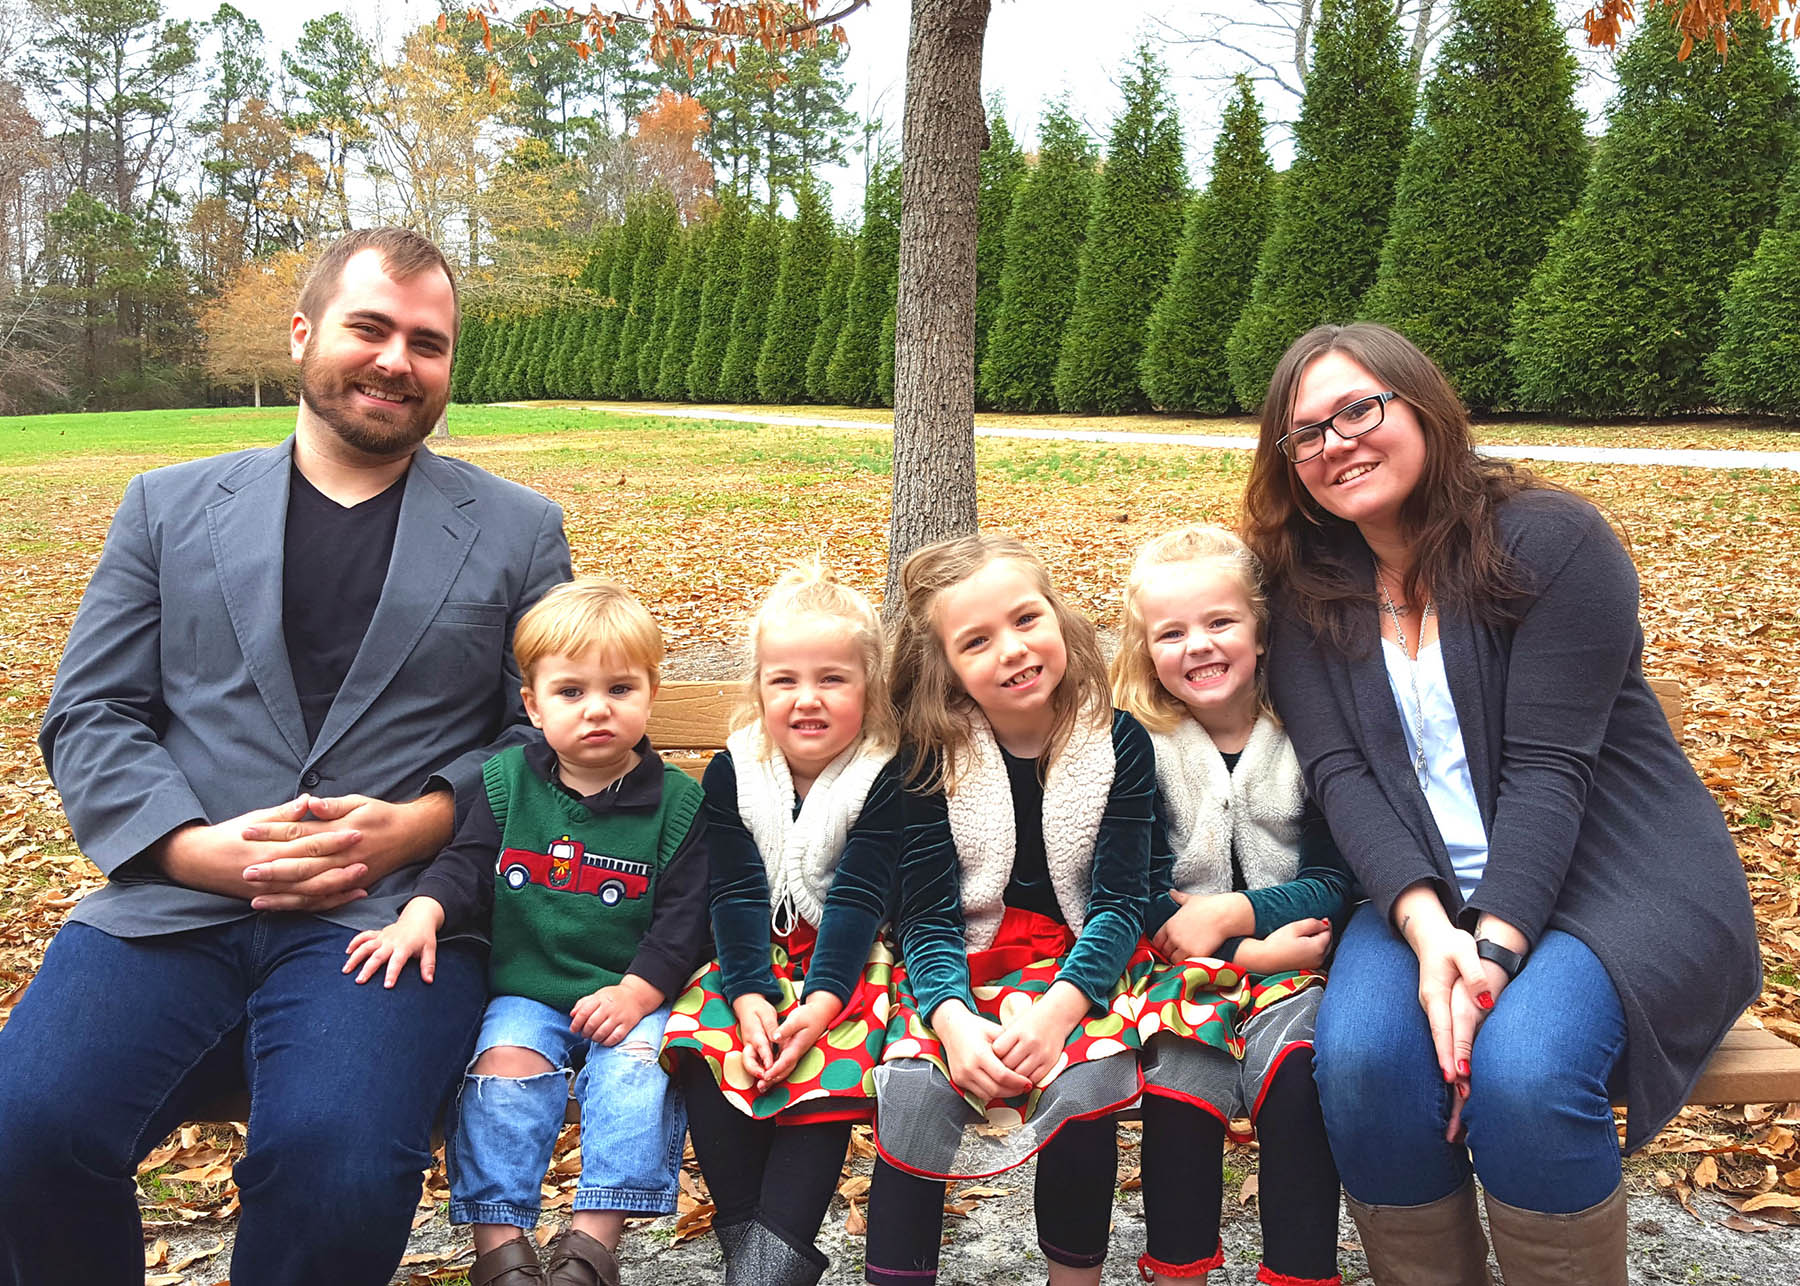
[[[394,555],[382,582],[382,602],[376,603],[369,632],[362,636],[337,701],[326,711],[326,722],[311,747],[313,760],[331,749],[392,683],[443,607],[481,533],[481,524],[463,510],[475,497],[423,447],[412,457],[403,486],[407,490],[400,497]]]

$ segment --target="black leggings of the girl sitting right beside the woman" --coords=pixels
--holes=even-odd
[[[1337,1167],[1325,1144],[1312,1052],[1276,1070],[1256,1111],[1262,1263],[1301,1281],[1337,1273]],[[1220,1158],[1226,1128],[1177,1099],[1143,1097],[1143,1219],[1148,1255],[1195,1264],[1219,1250]]]

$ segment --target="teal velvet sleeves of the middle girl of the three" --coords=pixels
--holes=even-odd
[[[1143,937],[1150,895],[1150,818],[1156,798],[1156,749],[1143,726],[1112,711],[1112,792],[1094,836],[1093,892],[1087,915],[1058,976],[1080,987],[1089,1003],[1103,1005],[1125,973]],[[902,762],[911,762],[900,751]],[[927,762],[922,780],[936,765]],[[902,800],[900,843],[900,953],[918,1012],[931,1021],[938,1005],[976,998],[968,982],[968,946],[963,938],[961,866],[950,838],[943,791],[909,789]],[[1019,818],[1015,827],[1042,827],[1042,816]]]

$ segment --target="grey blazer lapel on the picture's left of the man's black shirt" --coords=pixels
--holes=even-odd
[[[304,762],[306,720],[301,717],[301,697],[288,665],[288,639],[281,627],[292,461],[290,438],[221,477],[223,495],[207,506],[207,535],[245,668],[293,758]]]

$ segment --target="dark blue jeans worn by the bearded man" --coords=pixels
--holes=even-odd
[[[468,1061],[479,947],[394,991],[349,929],[252,915],[151,938],[68,924],[0,1028],[0,1284],[144,1281],[137,1164],[230,1073],[250,1086],[232,1281],[385,1286]]]

